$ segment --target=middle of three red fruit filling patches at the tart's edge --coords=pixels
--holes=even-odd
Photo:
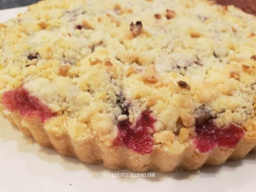
[[[143,111],[137,119],[135,125],[129,119],[119,121],[118,135],[114,140],[114,145],[124,144],[140,154],[152,152],[154,133],[154,123],[156,119],[151,116],[151,111]]]

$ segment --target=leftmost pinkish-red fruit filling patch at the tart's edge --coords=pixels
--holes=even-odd
[[[9,111],[19,110],[22,117],[38,116],[42,123],[55,116],[55,113],[52,113],[43,102],[31,95],[25,88],[4,92],[1,104]]]

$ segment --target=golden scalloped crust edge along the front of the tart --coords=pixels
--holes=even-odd
[[[2,108],[3,110],[3,108]],[[1,106],[0,106],[0,111]],[[107,147],[97,137],[78,139],[68,130],[56,133],[36,119],[27,120],[26,127],[19,112],[3,114],[24,135],[33,137],[40,145],[55,149],[64,156],[73,156],[88,164],[102,164],[109,169],[127,168],[131,171],[172,172],[177,169],[197,170],[204,165],[220,165],[227,159],[244,158],[255,151],[256,130],[244,130],[245,135],[233,149],[216,147],[211,152],[199,153],[192,141],[183,143],[176,139],[171,145],[154,145],[151,154],[139,154],[126,147]],[[32,120],[32,121],[31,121]]]

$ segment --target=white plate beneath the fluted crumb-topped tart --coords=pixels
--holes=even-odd
[[[0,22],[25,7],[0,11]],[[155,173],[155,178],[102,178],[111,171],[60,156],[29,141],[0,116],[0,192],[256,192],[256,156],[204,167],[199,173]],[[112,171],[120,173],[128,171]]]

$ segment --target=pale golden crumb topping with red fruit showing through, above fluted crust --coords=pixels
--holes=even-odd
[[[255,67],[256,17],[206,0],[44,0],[0,24],[4,114],[141,154],[213,121],[235,147],[256,128]]]

